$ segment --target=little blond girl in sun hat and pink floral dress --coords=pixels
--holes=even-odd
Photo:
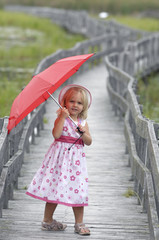
[[[83,223],[84,206],[88,205],[88,174],[83,146],[92,143],[86,122],[91,100],[89,90],[75,84],[65,86],[59,94],[62,109],[58,110],[52,130],[55,140],[27,191],[28,195],[46,201],[42,230],[60,231],[67,227],[53,219],[57,205],[64,204],[73,208],[75,232],[90,235]]]

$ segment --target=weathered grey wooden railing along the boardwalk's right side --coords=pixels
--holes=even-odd
[[[136,95],[137,76],[159,69],[159,34],[129,43],[122,53],[105,59],[108,92],[116,115],[124,116],[126,152],[132,169],[134,191],[147,212],[151,240],[159,239],[159,124],[142,115]]]

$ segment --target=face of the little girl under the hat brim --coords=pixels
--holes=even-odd
[[[80,92],[74,92],[70,98],[66,100],[66,108],[68,109],[70,116],[77,120],[78,115],[83,110],[82,94]]]

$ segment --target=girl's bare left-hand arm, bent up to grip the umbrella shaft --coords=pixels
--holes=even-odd
[[[52,135],[55,139],[61,136],[65,119],[68,116],[69,116],[68,110],[66,108],[61,109],[60,115],[55,120],[54,128],[52,130]]]

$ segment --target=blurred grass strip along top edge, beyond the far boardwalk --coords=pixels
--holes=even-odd
[[[159,9],[158,0],[2,0],[3,4],[50,6],[54,8],[87,10],[93,13],[106,11],[111,14],[131,14],[134,12]]]

